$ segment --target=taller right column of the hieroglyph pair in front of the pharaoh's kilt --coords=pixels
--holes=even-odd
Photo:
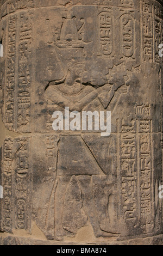
[[[139,143],[139,179],[140,179],[140,223],[147,233],[153,228],[152,212],[152,145],[151,145],[151,106],[137,106],[138,143]]]

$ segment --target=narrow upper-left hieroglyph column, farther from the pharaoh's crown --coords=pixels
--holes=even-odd
[[[6,112],[5,120],[9,127],[14,125],[14,87],[15,87],[15,46],[16,46],[16,16],[9,17]]]

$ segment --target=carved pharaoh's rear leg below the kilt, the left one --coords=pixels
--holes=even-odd
[[[82,191],[75,175],[59,176],[55,195],[55,235],[75,236],[87,223]]]

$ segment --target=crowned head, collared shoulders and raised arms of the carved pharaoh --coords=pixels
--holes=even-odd
[[[67,19],[64,19],[62,23],[60,40],[54,42],[56,53],[60,52],[60,54],[58,53],[58,58],[64,71],[64,77],[60,81],[48,83],[46,87],[48,99],[60,107],[68,106],[70,111],[80,112],[90,102],[96,98],[102,99],[102,94],[108,92],[107,102],[103,106],[106,109],[111,100],[113,100],[115,92],[126,85],[124,77],[120,77],[117,81],[114,81],[114,78],[112,78],[112,81],[108,81],[105,75],[101,81],[98,79],[99,84],[95,78],[91,81],[88,79],[85,69],[86,56],[84,48],[87,44],[91,44],[91,42],[79,40],[79,32],[72,18],[71,10],[67,12]],[[62,50],[64,57],[61,57]],[[100,74],[97,75],[100,76]]]

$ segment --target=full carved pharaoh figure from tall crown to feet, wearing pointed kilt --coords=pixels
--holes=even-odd
[[[107,19],[109,22],[110,17],[108,15],[102,15],[101,23],[107,22]],[[51,81],[48,83],[46,87],[47,97],[62,108],[69,107],[70,111],[81,112],[95,101],[97,102],[97,108],[94,107],[94,111],[99,108],[104,111],[111,103],[113,110],[121,94],[127,93],[128,91],[129,77],[127,77],[127,74],[120,74],[114,81],[114,77],[110,77],[110,74],[108,74],[110,78],[109,83],[106,75],[102,77],[100,72],[98,74],[95,72],[92,75],[92,80],[89,80],[85,69],[87,58],[85,48],[87,45],[91,45],[91,42],[85,42],[83,36],[81,36],[81,33],[82,35],[85,33],[84,19],[81,19],[83,25],[79,31],[77,30],[75,20],[73,10],[69,7],[67,17],[62,23],[60,39],[54,42],[56,53],[58,54],[65,75],[60,81]],[[50,21],[49,26],[51,26]],[[110,29],[107,33],[109,32]],[[109,48],[110,45],[106,42],[103,51],[108,52]],[[115,93],[118,90],[120,90],[119,97],[115,99]],[[73,148],[76,148],[76,152],[68,150],[68,148],[65,149],[65,144],[73,145]],[[57,209],[56,212],[54,211],[57,215],[55,216],[55,234],[60,237],[64,233],[67,235],[68,233],[66,231],[76,234],[79,228],[86,225],[89,217],[97,237],[117,236],[118,227],[111,227],[114,223],[110,223],[109,221],[106,205],[103,206],[103,215],[105,215],[106,224],[100,225],[98,223],[95,213],[96,207],[93,203],[91,177],[92,175],[97,175],[98,177],[105,175],[105,173],[99,166],[95,156],[91,153],[84,137],[75,135],[72,137],[70,133],[68,136],[61,136],[59,145],[58,184],[54,206]],[[104,181],[104,186],[106,185],[105,183],[106,181]],[[112,189],[110,185],[110,194]],[[65,202],[62,202],[61,191],[65,193]],[[76,195],[74,195],[74,191],[76,191]],[[69,192],[70,195],[67,196],[66,192]],[[82,195],[82,198],[80,195]],[[109,200],[109,197],[105,199]],[[69,200],[70,202],[68,202]],[[71,200],[74,200],[74,202],[71,203]],[[99,200],[101,199],[99,198]],[[71,208],[74,209],[74,212],[71,212]],[[58,210],[59,212],[57,212]]]

